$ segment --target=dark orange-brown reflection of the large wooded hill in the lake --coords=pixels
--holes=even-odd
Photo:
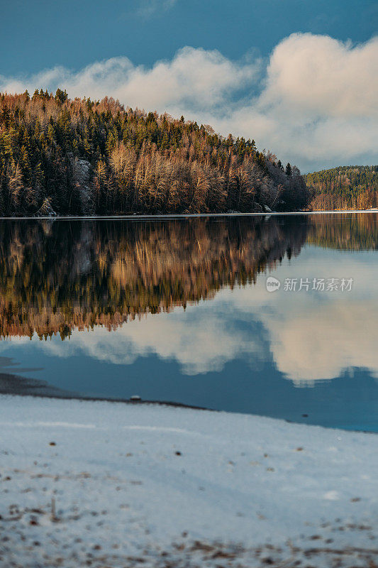
[[[65,339],[209,299],[298,254],[306,231],[278,217],[0,222],[0,335]]]

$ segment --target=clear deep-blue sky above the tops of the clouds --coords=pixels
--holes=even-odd
[[[269,55],[293,32],[363,42],[377,33],[372,0],[1,0],[0,74],[53,65],[79,69],[126,55],[134,64],[171,59],[184,45],[230,59]]]

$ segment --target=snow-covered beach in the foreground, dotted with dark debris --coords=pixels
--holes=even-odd
[[[0,432],[1,567],[378,564],[377,435],[6,395]]]

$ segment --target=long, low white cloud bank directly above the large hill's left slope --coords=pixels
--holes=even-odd
[[[111,58],[79,72],[55,67],[26,80],[0,76],[0,89],[33,92],[41,86],[52,91],[65,87],[70,97],[108,95],[133,108],[211,114],[231,104],[232,95],[253,82],[258,68],[256,61],[232,62],[217,50],[186,47],[171,61],[158,61],[150,69],[134,66],[128,58]]]

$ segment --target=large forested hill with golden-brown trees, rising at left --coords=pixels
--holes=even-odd
[[[0,94],[0,215],[306,207],[295,166],[167,114],[36,90]]]

